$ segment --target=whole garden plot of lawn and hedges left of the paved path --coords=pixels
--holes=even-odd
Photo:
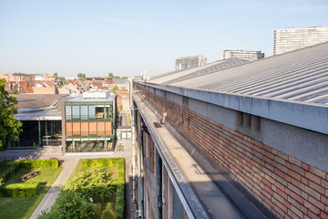
[[[0,162],[0,218],[29,218],[37,205],[42,201],[49,187],[38,187],[40,183],[51,184],[56,181],[62,171],[56,159],[29,160],[29,161],[4,161]],[[40,167],[24,169],[23,167]],[[50,167],[50,168],[48,168]],[[53,168],[51,168],[53,167]],[[26,182],[19,182],[18,178],[28,172],[39,172],[34,178]],[[36,196],[37,193],[37,196]],[[34,196],[32,196],[34,195]],[[12,196],[4,198],[4,196]],[[22,197],[31,196],[31,197]]]

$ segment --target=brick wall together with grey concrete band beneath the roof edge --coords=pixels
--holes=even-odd
[[[272,214],[328,217],[325,134],[260,118],[259,138],[254,138],[246,134],[251,128],[239,126],[236,110],[143,85],[137,89],[159,113],[167,111],[170,123]]]

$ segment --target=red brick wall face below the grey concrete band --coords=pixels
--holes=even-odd
[[[279,218],[328,218],[328,173],[138,86],[146,99]]]

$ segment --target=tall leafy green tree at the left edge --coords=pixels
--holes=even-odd
[[[15,120],[17,100],[5,90],[5,78],[0,78],[0,151],[7,149],[8,143],[17,141],[22,122]]]

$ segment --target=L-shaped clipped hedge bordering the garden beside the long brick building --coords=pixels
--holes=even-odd
[[[125,160],[124,158],[111,158],[111,159],[83,159],[81,162],[82,167],[118,167],[118,181],[114,182],[117,185],[117,200],[115,204],[116,219],[124,218],[125,207]]]

